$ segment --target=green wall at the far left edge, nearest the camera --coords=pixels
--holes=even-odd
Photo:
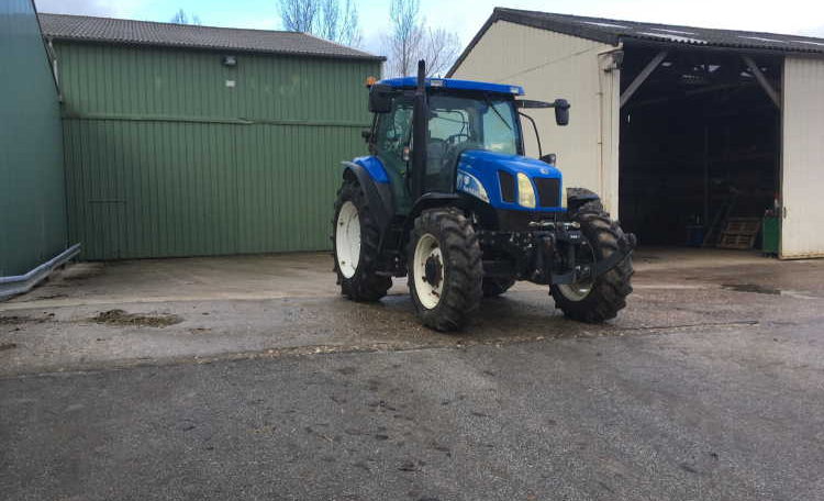
[[[57,90],[31,0],[0,1],[0,277],[66,248]]]

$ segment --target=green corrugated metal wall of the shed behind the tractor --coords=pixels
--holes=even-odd
[[[85,258],[329,248],[378,62],[55,45]]]

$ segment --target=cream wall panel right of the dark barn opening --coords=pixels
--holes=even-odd
[[[824,257],[824,58],[787,57],[781,258]]]

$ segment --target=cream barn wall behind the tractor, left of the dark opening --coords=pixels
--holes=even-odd
[[[601,194],[617,215],[620,73],[601,70],[609,44],[506,21],[492,24],[455,71],[455,78],[522,85],[526,97],[568,99],[569,125],[555,124],[553,110],[530,110],[544,153],[556,153],[567,187]],[[530,155],[537,155],[535,133],[524,122]]]

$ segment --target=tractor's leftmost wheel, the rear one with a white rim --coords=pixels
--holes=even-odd
[[[354,179],[345,180],[337,191],[332,224],[341,293],[355,301],[377,301],[386,296],[392,287],[392,279],[375,272],[380,230],[360,185]]]

